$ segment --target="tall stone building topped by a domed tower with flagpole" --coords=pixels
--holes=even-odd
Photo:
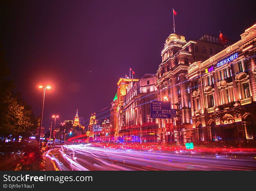
[[[166,39],[161,51],[162,62],[156,73],[156,87],[159,100],[169,101],[171,108],[179,111],[176,118],[157,119],[161,142],[186,142],[192,136],[190,88],[185,77],[187,69],[195,61],[204,61],[224,49],[223,44],[232,42],[211,35],[189,42],[178,34],[170,34]]]

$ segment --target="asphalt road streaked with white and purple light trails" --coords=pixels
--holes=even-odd
[[[256,159],[64,145],[47,151],[59,170],[256,170]],[[52,170],[52,167],[47,167]]]

